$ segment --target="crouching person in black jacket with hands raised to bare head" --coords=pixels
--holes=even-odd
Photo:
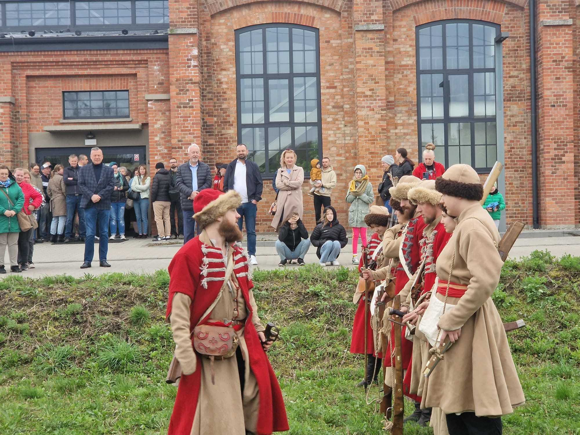
[[[286,263],[296,259],[300,266],[304,266],[306,264],[304,258],[309,248],[308,231],[298,213],[293,213],[278,230],[276,241],[276,252],[280,255],[278,266],[286,266]]]

